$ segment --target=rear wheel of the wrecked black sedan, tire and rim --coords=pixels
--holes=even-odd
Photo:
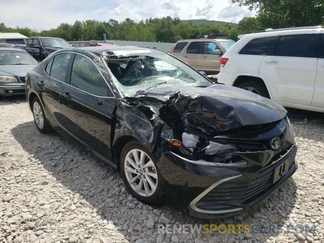
[[[52,128],[47,121],[43,106],[41,105],[41,101],[37,97],[33,99],[31,107],[33,111],[34,121],[38,131],[45,134],[51,133]]]

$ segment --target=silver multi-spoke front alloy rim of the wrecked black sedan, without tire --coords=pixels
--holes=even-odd
[[[140,196],[152,196],[157,188],[157,172],[152,159],[141,149],[130,150],[124,161],[124,170],[131,188]]]

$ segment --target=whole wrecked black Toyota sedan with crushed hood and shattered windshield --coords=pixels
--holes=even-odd
[[[283,107],[166,52],[59,50],[27,73],[26,98],[41,133],[73,138],[120,170],[139,201],[193,217],[241,214],[297,169]]]

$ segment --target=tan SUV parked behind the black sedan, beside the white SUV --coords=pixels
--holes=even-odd
[[[212,39],[209,36],[201,39],[179,40],[169,53],[198,71],[218,73],[221,57],[234,44],[235,41],[227,38]]]

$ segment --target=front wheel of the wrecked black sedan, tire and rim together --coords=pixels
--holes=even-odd
[[[148,205],[163,202],[164,179],[156,158],[140,142],[128,142],[120,157],[121,177],[133,197]]]

